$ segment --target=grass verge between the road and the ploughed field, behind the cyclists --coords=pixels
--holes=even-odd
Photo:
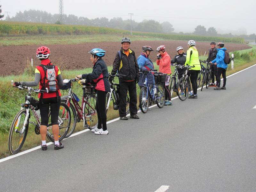
[[[227,75],[233,74],[237,71],[240,71],[244,68],[252,66],[256,62],[256,46],[252,47],[249,50],[242,50],[235,52],[235,67],[231,70],[231,64],[228,66]],[[200,57],[200,59],[205,60],[206,57]],[[20,110],[20,104],[24,102],[25,92],[12,88],[11,80],[14,81],[33,81],[34,80],[34,71],[35,68],[29,67],[25,70],[24,74],[19,76],[5,76],[0,77],[0,158],[8,156],[8,132],[12,124],[12,120],[16,113]],[[156,69],[158,66],[155,64]],[[112,67],[108,67],[110,72]],[[172,71],[174,68],[172,67]],[[84,70],[72,70],[72,71],[62,71],[63,78],[74,78],[78,74],[90,73],[92,72],[91,68]],[[228,82],[227,82],[228,86]],[[74,83],[73,91],[81,98],[82,89],[78,83]],[[137,89],[139,95],[139,88]],[[63,92],[63,94],[66,94]],[[37,97],[36,94],[33,95]],[[118,111],[114,111],[113,108],[108,110],[108,120],[118,117]],[[33,118],[31,119],[33,121]],[[36,135],[34,132],[35,126],[29,125],[29,132],[27,135],[26,142],[24,144],[23,150],[38,146],[41,142],[40,135]],[[82,130],[82,123],[78,123],[76,131]]]

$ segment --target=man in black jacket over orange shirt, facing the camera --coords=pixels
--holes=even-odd
[[[119,78],[119,116],[122,120],[127,120],[126,117],[126,96],[127,90],[129,90],[130,96],[130,118],[139,119],[137,116],[137,92],[136,83],[139,82],[139,66],[135,53],[130,49],[131,40],[128,37],[124,37],[121,40],[122,48],[116,53],[115,60],[113,62],[112,75],[117,72],[125,75],[123,78]],[[112,78],[111,76],[109,78]]]

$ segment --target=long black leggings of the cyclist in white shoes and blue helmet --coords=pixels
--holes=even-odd
[[[107,115],[106,115],[106,95],[107,92],[97,90],[96,111],[98,116],[98,129],[107,130]]]

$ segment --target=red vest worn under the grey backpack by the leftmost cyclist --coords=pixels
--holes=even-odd
[[[41,65],[52,65],[51,61],[49,59],[44,59],[41,60]],[[41,75],[41,79],[40,79],[40,83],[39,83],[39,89],[42,89],[42,84],[44,83],[44,69],[40,66],[36,66],[37,70],[40,72]],[[55,71],[56,71],[56,78],[59,74],[59,68],[57,66],[55,66]],[[59,92],[59,96],[61,96],[60,90],[58,90]],[[41,93],[38,94],[38,98],[41,97]],[[51,97],[57,97],[57,93],[56,92],[44,92],[43,94],[43,98],[51,98]]]

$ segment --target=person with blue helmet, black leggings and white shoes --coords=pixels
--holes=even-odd
[[[92,129],[97,135],[107,135],[107,115],[106,115],[106,95],[110,92],[110,83],[108,81],[108,68],[102,57],[105,56],[103,49],[94,48],[91,53],[91,61],[93,64],[92,73],[76,76],[76,79],[83,78],[79,83],[91,82],[96,84],[97,90],[96,111],[98,116],[98,127]],[[86,79],[86,80],[85,80]]]

